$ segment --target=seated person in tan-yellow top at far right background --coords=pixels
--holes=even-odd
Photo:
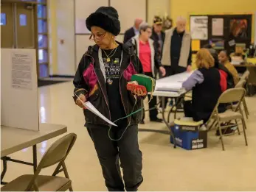
[[[229,70],[229,72],[232,74],[235,85],[237,85],[239,82],[238,71],[235,69],[234,65],[230,63],[230,58],[225,50],[221,51],[220,54],[218,54],[218,60]]]

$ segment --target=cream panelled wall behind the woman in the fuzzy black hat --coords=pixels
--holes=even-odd
[[[134,18],[146,18],[148,1],[148,22],[153,16],[164,16],[169,12],[170,0],[110,0],[120,15],[122,42],[123,32],[134,24]],[[108,6],[108,0],[48,0],[49,2],[49,57],[50,74],[75,75],[77,65],[88,46],[89,40],[86,18],[100,6]],[[80,26],[80,27],[79,27]],[[63,44],[60,43],[63,40]]]

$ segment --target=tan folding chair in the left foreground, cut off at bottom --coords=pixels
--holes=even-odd
[[[77,139],[75,133],[65,135],[58,139],[42,157],[35,174],[27,174],[14,179],[1,188],[1,191],[73,191],[72,182],[64,161]],[[53,166],[58,163],[52,176],[39,175],[43,168]],[[62,169],[60,169],[62,167]],[[65,177],[56,177],[58,173],[64,171]]]

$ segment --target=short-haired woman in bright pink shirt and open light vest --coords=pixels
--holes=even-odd
[[[153,40],[150,38],[152,35],[152,28],[147,23],[142,23],[139,25],[139,35],[136,35],[128,44],[134,46],[139,60],[142,63],[143,71],[145,75],[155,78],[154,69],[160,71],[162,76],[165,76],[165,68],[159,63],[159,58],[157,57],[156,50],[153,46]],[[148,95],[148,98],[151,96]],[[156,109],[156,96],[153,96],[153,99],[149,103],[149,111],[151,121],[162,122],[162,119],[157,118],[157,109]],[[145,113],[143,113],[143,118],[141,124],[145,124],[144,118]]]

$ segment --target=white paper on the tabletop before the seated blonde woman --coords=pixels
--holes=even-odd
[[[155,90],[181,92],[182,90],[184,90],[184,88],[182,88],[182,83],[186,81],[187,78],[190,77],[192,73],[193,71],[192,72],[186,71],[181,74],[175,74],[170,77],[157,79]]]

